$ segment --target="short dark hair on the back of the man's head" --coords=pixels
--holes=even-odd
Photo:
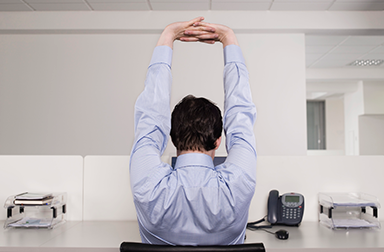
[[[205,98],[188,95],[173,109],[171,138],[179,151],[213,150],[222,130],[220,109]]]

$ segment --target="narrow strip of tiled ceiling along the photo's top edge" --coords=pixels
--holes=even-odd
[[[0,0],[0,11],[383,11],[383,0]]]

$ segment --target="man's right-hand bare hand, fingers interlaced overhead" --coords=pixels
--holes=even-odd
[[[205,28],[205,29],[202,29]],[[196,29],[201,29],[204,31],[208,31],[208,29],[211,28],[211,31],[214,31],[215,34],[217,34],[217,37],[212,39],[207,39],[201,35],[199,35],[199,32]],[[200,42],[205,43],[214,43],[216,41],[220,41],[223,44],[223,47],[226,47],[227,45],[239,45],[236,35],[233,32],[233,30],[225,25],[220,24],[210,24],[202,21],[197,21],[193,24],[193,28],[187,29],[184,34],[195,36],[195,38],[199,38]]]

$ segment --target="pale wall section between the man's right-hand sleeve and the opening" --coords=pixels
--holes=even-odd
[[[306,155],[303,34],[240,35],[258,118],[259,155]]]

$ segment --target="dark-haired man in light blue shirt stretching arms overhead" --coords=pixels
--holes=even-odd
[[[175,40],[224,48],[224,130],[228,156],[214,167],[221,142],[219,109],[188,96],[170,112],[171,60]],[[197,18],[168,25],[148,68],[135,105],[135,143],[130,176],[144,243],[173,245],[240,244],[255,190],[256,118],[248,72],[234,32]],[[186,125],[189,124],[189,125]],[[161,162],[171,132],[175,168]]]

